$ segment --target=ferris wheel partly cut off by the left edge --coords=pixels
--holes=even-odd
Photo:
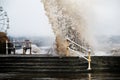
[[[0,32],[5,32],[9,29],[9,18],[7,12],[3,10],[3,7],[0,6]]]

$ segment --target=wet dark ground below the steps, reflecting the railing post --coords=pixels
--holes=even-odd
[[[43,76],[41,74],[0,74],[0,80],[120,80],[119,73],[81,73],[73,75]]]

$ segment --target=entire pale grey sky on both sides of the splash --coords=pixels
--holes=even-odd
[[[0,0],[10,17],[11,35],[53,36],[40,0]],[[94,0],[89,25],[97,35],[120,35],[120,0]]]

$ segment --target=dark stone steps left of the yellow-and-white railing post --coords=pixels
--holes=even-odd
[[[86,73],[87,61],[79,57],[0,57],[0,73]]]

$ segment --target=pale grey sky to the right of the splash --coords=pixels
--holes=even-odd
[[[96,0],[92,16],[95,34],[120,35],[120,0]]]

